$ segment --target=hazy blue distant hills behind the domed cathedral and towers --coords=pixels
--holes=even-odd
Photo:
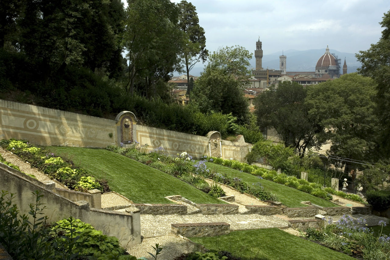
[[[318,50],[286,50],[283,52],[287,56],[286,65],[288,71],[314,71],[316,69],[316,64],[318,59],[325,53],[325,48]],[[344,57],[346,57],[346,62],[348,66],[348,73],[356,72],[357,68],[360,68],[361,64],[356,60],[355,53],[347,52],[338,52],[337,50],[330,50],[330,53],[335,53],[341,59],[341,68],[344,64]],[[262,65],[263,68],[269,69],[279,69],[279,55],[282,55],[280,52],[275,52],[267,55],[263,55]],[[251,66],[255,66],[255,57],[250,60]],[[200,76],[200,72],[203,71],[204,64],[199,64],[199,66],[194,67],[190,74],[193,76]],[[340,70],[342,73],[342,69]],[[181,75],[179,73],[174,73],[175,76]]]

